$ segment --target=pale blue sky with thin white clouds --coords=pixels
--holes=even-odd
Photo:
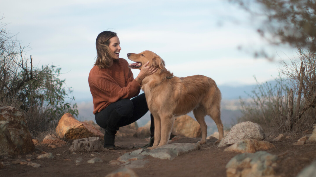
[[[269,48],[256,32],[259,22],[227,1],[2,0],[0,17],[21,46],[29,46],[24,54],[33,65],[61,68],[60,78],[79,101],[92,100],[88,74],[104,30],[118,34],[120,57],[128,62],[127,53],[151,50],[175,76],[206,75],[217,85],[251,85],[253,76],[273,80],[282,67],[278,59],[295,55],[291,48]],[[276,60],[254,59],[252,50],[260,47]]]

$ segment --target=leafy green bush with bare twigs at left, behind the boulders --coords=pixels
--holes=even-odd
[[[76,104],[65,101],[72,91],[64,87],[65,80],[58,78],[61,69],[53,65],[33,66],[32,56],[23,56],[26,48],[0,23],[0,104],[24,113],[36,137],[52,132],[64,113],[78,116],[78,110]]]

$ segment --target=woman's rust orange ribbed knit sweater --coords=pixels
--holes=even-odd
[[[110,68],[94,66],[88,78],[93,99],[93,114],[100,112],[112,102],[123,98],[136,97],[140,84],[134,80],[125,59],[119,58]]]

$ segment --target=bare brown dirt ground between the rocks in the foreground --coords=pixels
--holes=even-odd
[[[310,132],[311,133],[311,132]],[[199,138],[181,138],[176,142],[196,143]],[[218,148],[215,144],[216,138],[212,138],[202,145],[197,151],[182,154],[172,161],[161,160],[153,157],[146,157],[149,163],[140,169],[134,169],[140,177],[162,177],[162,176],[208,176],[224,177],[226,176],[225,165],[236,156],[235,152],[223,152],[225,147]],[[126,152],[136,150],[139,146],[145,145],[148,139],[138,139],[134,137],[116,138],[115,144],[117,150],[98,153],[72,153],[69,147],[50,148],[38,145],[36,151],[30,153],[33,157],[26,157],[22,154],[16,157],[1,157],[0,162],[10,162],[17,159],[31,159],[33,163],[41,164],[40,168],[34,168],[27,165],[12,164],[0,169],[1,177],[40,177],[40,176],[106,176],[119,166],[111,166],[109,162],[116,160]],[[270,141],[271,142],[271,141]],[[284,177],[295,177],[304,167],[316,159],[316,144],[306,144],[302,146],[293,145],[295,140],[286,140],[282,142],[272,142],[276,148],[267,152],[278,155],[280,162],[275,168],[276,174]],[[52,152],[54,159],[37,159],[42,151]],[[60,154],[59,156],[57,154]],[[76,165],[77,158],[83,158],[80,165]],[[104,163],[87,163],[94,157],[101,158]]]

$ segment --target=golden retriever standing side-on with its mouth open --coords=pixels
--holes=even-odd
[[[207,125],[205,115],[209,115],[216,123],[219,142],[223,138],[223,124],[221,121],[221,91],[213,79],[204,75],[176,77],[165,68],[165,62],[151,51],[142,53],[128,53],[127,58],[137,62],[129,64],[132,69],[141,69],[149,61],[149,65],[158,70],[146,76],[142,81],[150,113],[154,116],[155,141],[154,149],[167,144],[175,116],[187,114],[193,110],[197,122],[200,124],[202,139],[199,144],[206,142]]]

